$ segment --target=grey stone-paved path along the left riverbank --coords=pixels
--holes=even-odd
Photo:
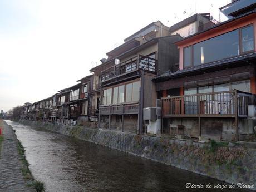
[[[21,172],[22,164],[17,150],[17,139],[12,128],[3,122],[4,140],[0,155],[0,191],[34,191],[26,186]]]

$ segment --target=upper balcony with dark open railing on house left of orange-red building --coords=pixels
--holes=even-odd
[[[151,57],[138,55],[118,65],[107,68],[101,72],[101,82],[111,80],[112,78],[126,75],[144,68],[146,72],[157,72],[157,60]]]

